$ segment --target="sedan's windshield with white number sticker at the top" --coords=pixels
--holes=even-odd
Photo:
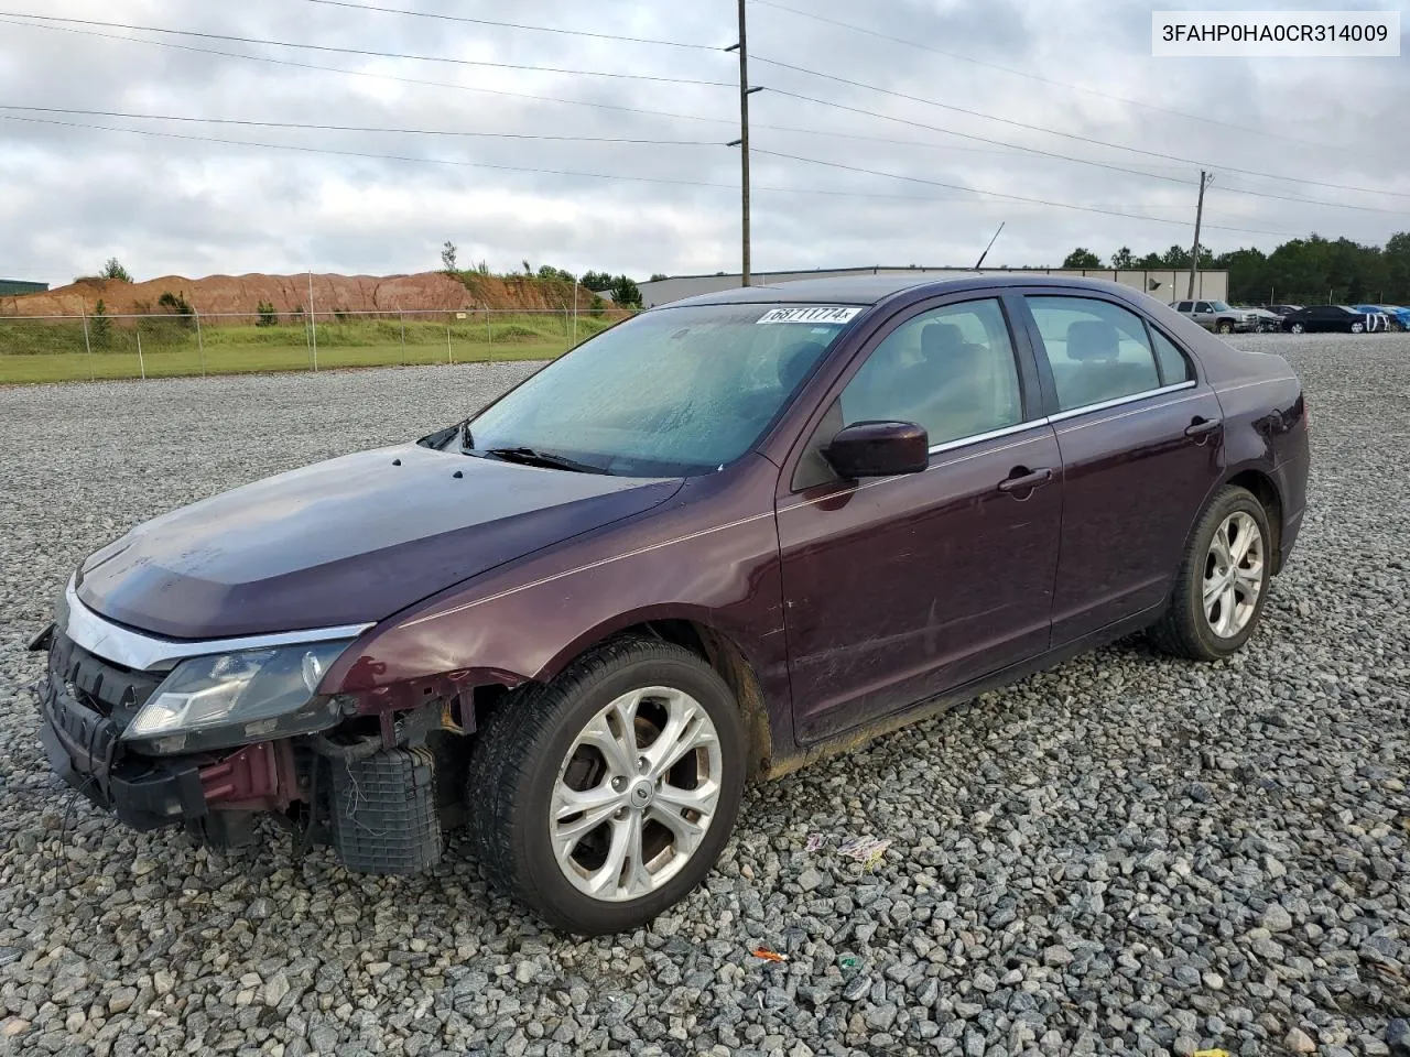
[[[468,424],[471,451],[529,450],[619,476],[709,474],[743,455],[864,309],[656,309],[550,364]]]

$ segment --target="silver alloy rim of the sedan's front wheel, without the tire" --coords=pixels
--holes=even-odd
[[[719,734],[698,700],[668,686],[623,693],[558,767],[548,808],[558,868],[594,899],[650,895],[695,854],[722,775]]]

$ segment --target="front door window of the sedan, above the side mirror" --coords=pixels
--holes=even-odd
[[[842,392],[842,424],[914,421],[931,444],[1024,420],[1008,324],[997,300],[963,302],[907,320]]]

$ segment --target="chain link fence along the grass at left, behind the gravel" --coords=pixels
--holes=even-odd
[[[0,316],[0,385],[551,359],[620,309]]]

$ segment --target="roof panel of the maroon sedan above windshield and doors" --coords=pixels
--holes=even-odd
[[[1065,275],[1025,275],[1007,272],[1003,275],[984,272],[950,273],[943,279],[925,275],[850,275],[830,279],[799,279],[797,282],[768,283],[764,286],[740,286],[713,293],[701,293],[678,302],[658,304],[660,309],[678,309],[687,304],[880,304],[888,297],[911,292],[938,295],[956,290],[993,286],[1046,286],[1052,289],[1120,290],[1139,293],[1129,286],[1104,279],[1081,279]]]

